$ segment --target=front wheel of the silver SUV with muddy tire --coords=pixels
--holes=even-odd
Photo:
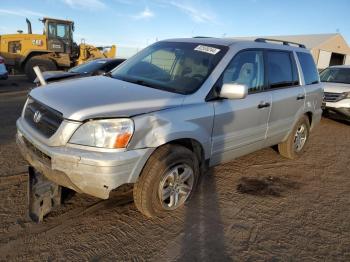
[[[137,209],[146,217],[152,218],[181,208],[190,199],[197,185],[200,173],[198,163],[196,155],[185,147],[164,145],[158,148],[148,159],[134,185],[133,194]],[[174,170],[177,170],[178,176],[174,175]],[[189,175],[186,182],[181,183],[181,178],[187,177],[186,174],[190,174],[190,170],[193,176]],[[176,182],[176,177],[179,183]],[[161,195],[165,196],[164,199],[161,199]]]

